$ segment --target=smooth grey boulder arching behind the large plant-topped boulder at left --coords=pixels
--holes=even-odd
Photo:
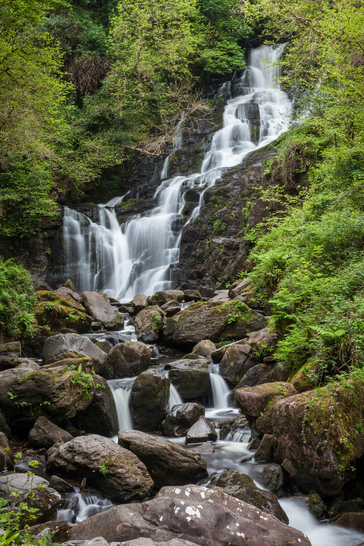
[[[45,340],[42,352],[43,364],[50,364],[51,360],[67,351],[76,351],[87,354],[92,360],[94,371],[103,375],[106,353],[97,347],[88,337],[79,334],[57,334]]]

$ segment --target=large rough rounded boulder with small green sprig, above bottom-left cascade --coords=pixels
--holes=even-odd
[[[148,498],[153,488],[153,480],[138,457],[96,434],[62,444],[49,456],[46,466],[47,471],[86,477],[115,501]]]

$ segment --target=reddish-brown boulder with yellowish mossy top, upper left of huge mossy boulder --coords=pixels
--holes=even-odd
[[[290,383],[265,383],[235,391],[235,400],[248,417],[258,417],[281,397],[293,396],[295,388]]]

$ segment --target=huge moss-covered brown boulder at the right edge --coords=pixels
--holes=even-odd
[[[364,454],[364,381],[344,379],[277,398],[255,428],[273,436],[274,462],[291,461],[301,491],[338,495]]]

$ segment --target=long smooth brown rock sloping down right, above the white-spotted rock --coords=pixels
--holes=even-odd
[[[199,455],[165,438],[136,430],[120,430],[118,443],[144,462],[158,488],[186,485],[207,476],[206,462]]]

